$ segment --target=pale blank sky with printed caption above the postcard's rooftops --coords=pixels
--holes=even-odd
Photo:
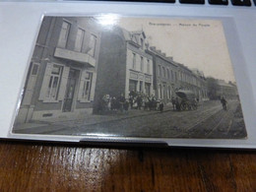
[[[114,24],[129,32],[143,29],[151,46],[206,77],[234,81],[221,21],[115,18]]]

